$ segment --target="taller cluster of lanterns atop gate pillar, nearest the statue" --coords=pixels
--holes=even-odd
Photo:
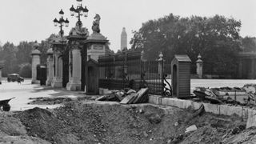
[[[78,26],[81,29],[82,28],[82,22],[81,22],[81,17],[84,16],[85,18],[88,17],[88,9],[85,7],[82,7],[82,0],[77,0],[78,6],[74,8],[74,5],[71,6],[70,8],[70,15],[72,17],[78,18]]]

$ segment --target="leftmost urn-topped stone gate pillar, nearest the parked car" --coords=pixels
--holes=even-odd
[[[32,51],[32,84],[38,84],[37,80],[37,66],[40,64],[40,55],[41,52],[38,50],[39,44],[37,42],[34,43],[34,50]]]

